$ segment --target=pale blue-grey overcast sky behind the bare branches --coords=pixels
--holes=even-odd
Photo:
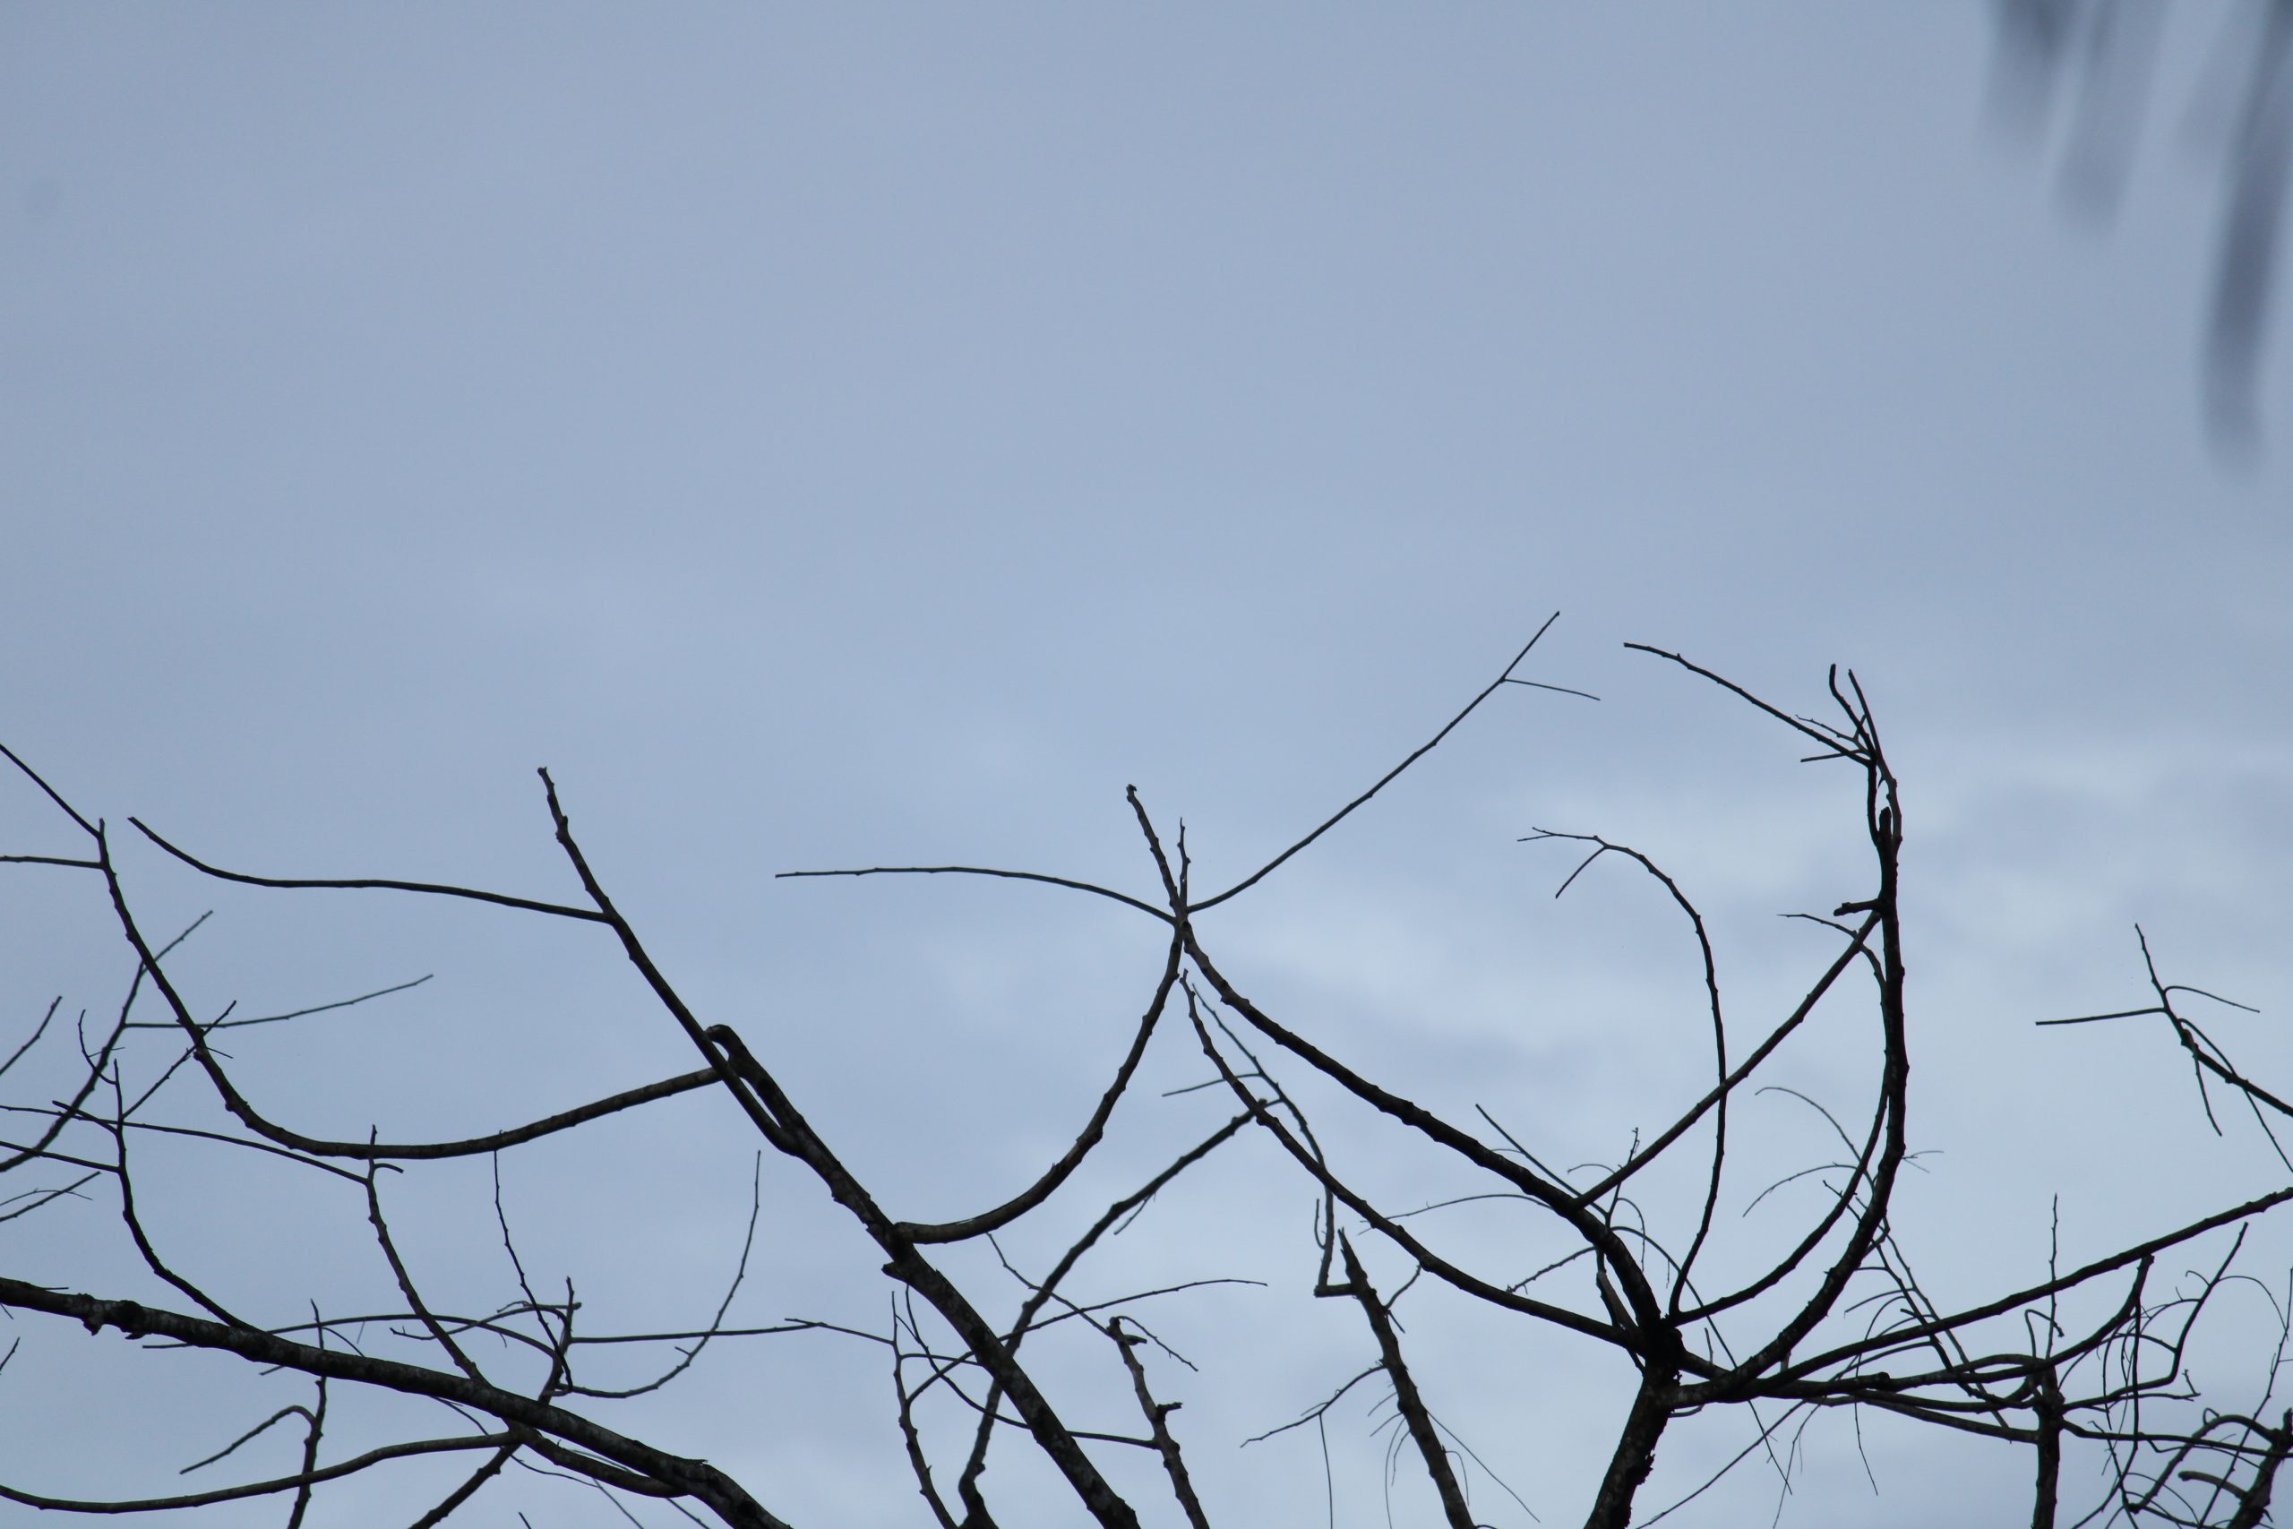
[[[1899,1231],[1944,1304],[2029,1284],[2057,1203],[2068,1259],[2275,1183],[2249,1128],[2206,1128],[2169,1036],[2032,1027],[2146,1002],[2137,922],[2169,981],[2263,1011],[2222,1011],[2233,1057],[2293,1071],[2284,342],[2254,461],[2199,408],[2220,183],[2181,110],[2222,14],[2174,11],[2098,229],[2064,211],[2059,142],[1990,119],[1977,5],[5,5],[0,743],[89,816],[234,869],[576,899],[548,766],[704,1020],[901,1215],[940,1217],[1075,1130],[1156,928],[1041,887],[777,871],[1151,896],[1137,784],[1224,885],[1559,612],[1523,674],[1598,701],[1507,688],[1204,938],[1367,1073],[1614,1160],[1704,1087],[1692,951],[1617,867],[1555,901],[1573,860],[1520,837],[1644,848],[1711,917],[1740,1011],[1789,1006],[1828,951],[1775,915],[1864,892],[1855,782],[1623,644],[1809,713],[1850,665],[1905,800],[1931,1155]],[[0,830],[71,848],[23,786]],[[177,958],[206,1009],[433,974],[245,1032],[250,1093],[305,1130],[475,1135],[695,1066],[592,928],[119,855],[151,926],[213,910]],[[0,899],[0,1025],[117,1009],[99,885],[9,869]],[[1814,1036],[1777,1082],[1853,1114],[1862,1041]],[[133,1066],[163,1066],[158,1038]],[[1224,1119],[1160,1098],[1204,1075],[1158,1038],[1062,1226]],[[190,1080],[167,1098],[213,1116]],[[1396,1203],[1447,1192],[1321,1109]],[[1805,1105],[1747,1119],[1777,1171],[1823,1160]],[[138,1162],[167,1247],[268,1320],[394,1300],[339,1185],[181,1144]],[[511,1297],[484,1165],[404,1181],[440,1300]],[[704,1318],[752,1183],[734,1320],[887,1323],[871,1249],[793,1165],[757,1169],[720,1100],[511,1153],[502,1181],[527,1268],[601,1327]],[[1149,1318],[1202,1366],[1158,1385],[1227,1522],[1387,1511],[1367,1391],[1330,1414],[1328,1501],[1312,1428],[1241,1446],[1367,1364],[1353,1314],[1307,1300],[1309,1213],[1296,1169],[1236,1144],[1085,1281],[1268,1281]],[[112,1215],[0,1226],[9,1270],[126,1293]],[[1454,1236],[1490,1268],[1543,1245]],[[2254,1254],[2279,1293],[2288,1247]],[[1007,1242],[1036,1272],[1046,1249]],[[1016,1302],[993,1259],[952,1268]],[[1406,1270],[1378,1249],[1371,1275]],[[2265,1325],[2245,1302],[2224,1398]],[[1435,1410],[1525,1504],[1477,1479],[1490,1522],[1582,1513],[1628,1375],[1422,1307]],[[0,1479],[30,1490],[172,1490],[303,1398],[11,1327]],[[610,1419],[796,1524],[926,1522],[881,1348],[743,1343]],[[1096,1396],[1105,1357],[1071,1364]],[[1747,1442],[1681,1424],[1646,1511]],[[1818,1419],[1782,1522],[2027,1520],[2016,1451],[1864,1444],[1869,1479]],[[991,1474],[1007,1522],[1066,1522],[1030,1472]],[[413,1518],[433,1481],[374,1474],[326,1522]],[[1424,1508],[1408,1463],[1392,1492]],[[626,1522],[532,1476],[472,1522],[518,1508]],[[1676,1522],[1775,1508],[1747,1465]]]

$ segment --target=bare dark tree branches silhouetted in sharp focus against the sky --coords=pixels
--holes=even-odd
[[[1545,624],[1550,626],[1550,621]],[[1543,630],[1539,630],[1539,637]],[[209,1016],[197,993],[179,979],[170,940],[151,933],[135,912],[135,899],[115,860],[115,832],[80,811],[57,786],[16,754],[5,754],[34,789],[53,825],[66,837],[41,853],[30,846],[7,860],[25,876],[94,878],[117,922],[128,954],[126,999],[108,1022],[83,1018],[69,1059],[71,1087],[57,1098],[25,1098],[5,1105],[14,1126],[0,1142],[0,1169],[23,1187],[0,1201],[0,1220],[57,1215],[66,1206],[108,1203],[119,1236],[133,1247],[142,1277],[138,1288],[83,1288],[39,1279],[0,1277],[0,1307],[16,1332],[9,1357],[21,1348],[41,1352],[37,1362],[66,1362],[73,1346],[138,1346],[138,1350],[199,1350],[218,1364],[259,1366],[280,1391],[268,1417],[241,1419],[236,1442],[199,1467],[227,1463],[250,1440],[284,1426],[300,1435],[294,1469],[232,1485],[151,1499],[69,1497],[46,1479],[39,1460],[11,1456],[0,1433],[0,1497],[28,1508],[69,1513],[195,1511],[211,1504],[271,1501],[289,1524],[323,1511],[328,1492],[344,1479],[388,1472],[417,1456],[461,1456],[468,1474],[415,1522],[438,1524],[468,1506],[509,1467],[539,1469],[594,1483],[635,1522],[647,1499],[672,1504],[686,1518],[713,1518],[741,1529],[768,1529],[782,1520],[757,1483],[736,1481],[725,1469],[672,1449],[672,1442],[637,1437],[637,1421],[617,1428],[617,1405],[676,1382],[702,1362],[720,1362],[729,1343],[807,1323],[743,1327],[731,1320],[748,1256],[731,1277],[715,1316],[690,1332],[626,1332],[601,1325],[573,1288],[543,1288],[530,1279],[500,1208],[500,1238],[514,1268],[514,1288],[484,1311],[445,1309],[424,1295],[417,1261],[392,1236],[388,1201],[397,1183],[426,1165],[454,1158],[500,1158],[557,1132],[582,1130],[608,1116],[654,1107],[683,1093],[722,1100],[738,1112],[761,1142],[764,1160],[798,1178],[814,1181],[842,1208],[874,1252],[855,1265],[867,1277],[881,1263],[890,1318],[874,1332],[848,1332],[846,1341],[887,1362],[892,1396],[885,1428],[897,1440],[915,1476],[931,1520],[942,1529],[988,1529],[997,1506],[988,1499],[991,1453],[1036,1451],[1064,1481],[1073,1501],[1108,1529],[1128,1529],[1142,1518],[1179,1520],[1195,1529],[1220,1520],[1220,1504],[1206,1499],[1188,1467],[1188,1444],[1174,1412],[1190,1387],[1234,1387],[1241,1375],[1211,1364],[1199,1375],[1172,1371],[1169,1350],[1140,1316],[1149,1297],[1197,1300],[1192,1286],[1215,1277],[1215,1245],[1192,1252],[1206,1265],[1202,1281],[1179,1288],[1137,1288],[1119,1300],[1075,1300],[1069,1277],[1085,1261],[1108,1252],[1110,1231],[1140,1215],[1149,1201],[1181,1176],[1241,1171],[1229,1144],[1257,1137],[1286,1162],[1296,1190],[1312,1199],[1312,1233],[1300,1224],[1289,1293],[1337,1302],[1357,1318],[1357,1373],[1325,1401],[1286,1426],[1321,1426],[1330,1408],[1371,1387],[1390,1405],[1392,1444],[1415,1456],[1415,1469],[1433,1488],[1440,1515],[1451,1529],[1497,1522],[1511,1513],[1488,1497],[1474,1506],[1474,1483],[1495,1481],[1484,1458],[1470,1451],[1451,1424],[1442,1421],[1445,1398],[1412,1369],[1410,1330],[1401,1316],[1406,1293],[1419,1284],[1445,1286],[1456,1300],[1484,1309],[1493,1320],[1516,1320],[1571,1334],[1612,1357],[1635,1378],[1630,1403],[1614,1419],[1612,1451],[1584,1522],[1596,1529],[1653,1522],[1681,1504],[1642,1501],[1658,1451],[1683,1419],[1740,1419],[1747,1440],[1736,1463],[1772,1469],[1786,1483],[1793,1440],[1811,1417],[1825,1412],[1889,1414],[1915,1424],[1972,1433],[2025,1446],[2032,1460],[2032,1522],[2217,1524],[2249,1529],[2268,1522],[2277,1469],[2293,1453],[2293,1408],[2275,1396],[2275,1375],[2286,1348],[2286,1311],[2293,1295],[2284,1272],[2265,1281],[2279,1302],[2275,1355],[2256,1362],[2256,1394],[2233,1401],[2197,1396],[2185,1362],[2192,1334],[2233,1281],[2249,1279],[2238,1268],[2245,1233],[2259,1217],[2293,1199],[2282,1187],[2243,1203],[2199,1206],[2174,1226],[2077,1268],[2048,1268],[2025,1279],[2004,1279],[1995,1295],[1972,1304],[1942,1304],[1915,1275],[1912,1249],[1903,1247],[1889,1208],[1912,1158],[1910,1077],[1915,1025],[1905,1006],[1908,931],[1899,901],[1899,864],[1905,837],[1901,789],[1880,740],[1873,708],[1853,674],[1830,676],[1825,718],[1795,715],[1772,706],[1727,679],[1681,658],[1633,644],[1637,651],[1715,683],[1772,722],[1782,736],[1807,750],[1818,768],[1844,770],[1860,782],[1857,839],[1867,853],[1860,885],[1828,912],[1795,915],[1823,942],[1795,1002],[1763,1013],[1750,1032],[1724,1002],[1706,919],[1688,889],[1649,853],[1612,839],[1536,830],[1527,841],[1580,850],[1580,862],[1559,880],[1566,892],[1591,867],[1619,867],[1646,878],[1649,889],[1672,908],[1701,963],[1704,1041],[1708,1087],[1697,1098],[1667,1105],[1669,1123],[1617,1162],[1559,1167],[1539,1132],[1479,1109],[1474,1119],[1445,1114],[1380,1084],[1353,1061],[1312,1038],[1307,1027],[1261,1004],[1247,977],[1213,956],[1204,917],[1247,894],[1323,834],[1367,807],[1410,766],[1440,747],[1468,718],[1502,695],[1520,690],[1562,692],[1559,685],[1525,679],[1536,640],[1472,697],[1431,740],[1387,770],[1355,800],[1263,867],[1215,892],[1192,885],[1185,832],[1165,832],[1133,789],[1144,862],[1153,869],[1153,892],[1124,892],[1043,871],[1007,867],[869,867],[853,871],[791,871],[791,876],[961,876],[1009,878],[1055,887],[1064,894],[1105,899],[1128,915],[1153,922],[1163,942],[1160,972],[1144,999],[1128,1050],[1073,1142],[1030,1185],[1000,1203],[947,1222],[903,1220],[887,1203],[890,1185],[862,1183],[830,1144],[848,1121],[821,1121],[798,1105],[775,1075],[773,1057],[729,1025],[697,1013],[670,974],[649,954],[631,917],[615,903],[603,878],[582,853],[557,784],[541,773],[548,818],[564,853],[580,901],[543,901],[461,885],[381,878],[271,878],[222,869],[177,848],[131,818],[133,832],[197,871],[255,887],[277,889],[374,889],[424,899],[459,899],[482,905],[484,917],[537,917],[596,926],[635,970],[658,1004],[660,1018],[692,1045],[697,1066],[674,1077],[628,1087],[548,1119],[452,1142],[378,1142],[305,1135],[282,1123],[277,1100],[257,1100],[234,1077],[225,1052],[236,1020]],[[1568,692],[1582,695],[1582,692]],[[1573,701],[1555,701],[1573,704]],[[472,910],[477,912],[477,910]],[[2149,944],[2142,947],[2149,958]],[[2275,1123],[2293,1105],[2245,1075],[2220,1043],[2192,1018],[2192,1002],[2210,999],[2167,981],[2149,967],[2144,1002],[2119,1013],[2068,1016],[2057,1025],[2094,1025],[2151,1018],[2171,1034],[2188,1057],[2204,1107],[2233,1103],[2261,1123],[2268,1142]],[[374,997],[374,995],[367,995]],[[365,1002],[365,999],[351,999]],[[30,1034],[0,1071],[28,1068],[41,1048],[69,1045],[73,1027],[60,1025],[62,999],[46,1004]],[[1807,1213],[1786,1236],[1763,1233],[1756,1256],[1740,1247],[1720,1256],[1722,1242],[1740,1242],[1724,1210],[1759,1201],[1784,1185],[1745,1183],[1743,1112],[1747,1096],[1766,1082],[1770,1059],[1795,1036],[1823,1027],[1846,1027],[1869,1013],[1876,1052],[1873,1089],[1853,1114],[1823,1112],[1839,1151],[1802,1165],[1784,1183],[1795,1194],[1814,1190]],[[151,1018],[144,1018],[151,1016]],[[209,1016],[209,1018],[202,1018]],[[1165,1160],[1135,1190],[1087,1217],[1066,1222],[1064,1254],[1025,1272],[1009,1270],[993,1293],[977,1281],[965,1288],[949,1272],[958,1245],[988,1245],[995,1233],[1073,1215],[1062,1187],[1075,1181],[1119,1109],[1156,1109],[1133,1087],[1149,1048],[1192,1048],[1199,1054],[1202,1089],[1231,1100],[1224,1121],[1199,1135],[1183,1153]],[[18,1073],[18,1077],[25,1077]],[[190,1096],[227,1112],[222,1128],[186,1123],[197,1119],[181,1100]],[[1318,1103],[1316,1103],[1318,1100]],[[170,1109],[177,1109],[170,1116]],[[1080,1100],[1078,1100],[1080,1112]],[[1438,1206],[1383,1203],[1364,1178],[1364,1162],[1348,1160],[1341,1142],[1351,1128],[1332,1132],[1330,1114],[1351,1112],[1390,1139],[1431,1153],[1461,1176],[1463,1190],[1445,1206],[1502,1206],[1516,1220],[1502,1261],[1458,1245],[1431,1229],[1424,1213]],[[1316,1128],[1321,1116],[1321,1128]],[[326,1293],[314,1291],[300,1311],[250,1309],[232,1291],[206,1288],[161,1247],[149,1231],[151,1155],[197,1137],[206,1146],[291,1165],[335,1185],[365,1210],[369,1256],[388,1270],[397,1304],[385,1311],[326,1314]],[[1259,1158],[1266,1162],[1268,1158]],[[2279,1162],[2284,1155],[2279,1153]],[[2293,1174],[2293,1165],[2286,1165]],[[1688,1183],[1676,1206],[1651,1197],[1651,1185],[1672,1174]],[[1447,1181],[1445,1181],[1447,1183]],[[388,1187],[388,1197],[385,1197]],[[1793,1201],[1800,1203],[1800,1201]],[[1674,1208],[1678,1213],[1674,1215]],[[39,1222],[34,1222],[39,1224]],[[1525,1231],[1520,1231],[1525,1226]],[[491,1236],[493,1229],[488,1229]],[[750,1238],[757,1215],[750,1217]],[[1479,1247],[1479,1245],[1474,1245]],[[18,1254],[21,1254],[18,1245]],[[2162,1261],[2201,1256],[2194,1275],[2165,1272]],[[18,1265],[21,1268],[21,1265]],[[1743,1272],[1750,1270],[1750,1272]],[[1192,1291],[1192,1293],[1190,1293]],[[1270,1295],[1273,1297],[1273,1295]],[[993,1307],[1002,1302],[997,1314]],[[1073,1371],[1055,1378],[1039,1364],[1046,1330],[1096,1343],[1101,1391],[1078,1394]],[[658,1348],[665,1362],[637,1385],[605,1385],[589,1362],[601,1343]],[[55,1359],[55,1355],[66,1355]],[[18,1387],[7,1408],[25,1405],[30,1364],[0,1373],[0,1387]],[[1534,1385],[1527,1380],[1525,1385]],[[392,1391],[431,1403],[438,1426],[376,1440],[335,1421],[330,1401],[346,1387]],[[1105,1417],[1119,1403],[1135,1419],[1126,1430],[1082,1428],[1075,1417]],[[131,1412],[133,1396],[119,1398]],[[392,1414],[401,1417],[401,1414]],[[371,1428],[371,1419],[362,1428]],[[126,1440],[122,1446],[128,1446]],[[1133,1453],[1151,1460],[1163,1476],[1156,1501],[1135,1488],[1137,1472],[1110,1472],[1108,1460]],[[2100,1458],[2105,1490],[2096,1501],[2064,1504],[2064,1458],[2082,1451]],[[1734,1463],[1731,1463],[1734,1467]],[[1117,1488],[1117,1476],[1133,1481]],[[1708,1485],[1708,1483],[1706,1483]],[[1305,1495],[1312,1483],[1300,1483]],[[1692,1504],[1688,1492],[1681,1501]],[[1525,1511],[1525,1504],[1520,1504]],[[1986,1504],[1988,1506],[1988,1504]],[[2075,1508],[2075,1511],[2073,1511]],[[1002,1504],[1002,1511],[1016,1511]],[[250,1522],[234,1515],[229,1522]],[[268,1522],[268,1520],[266,1520]],[[498,1522],[498,1520],[495,1520]],[[1231,1520],[1229,1520],[1231,1522]]]

